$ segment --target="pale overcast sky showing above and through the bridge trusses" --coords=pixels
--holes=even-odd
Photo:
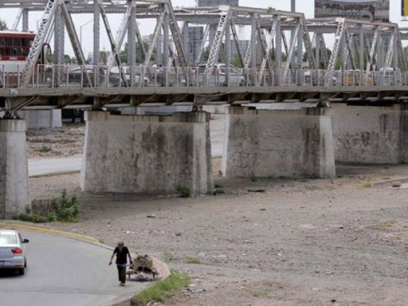
[[[1,1],[1,0],[0,0]],[[258,7],[258,8],[267,8],[273,7],[278,10],[290,11],[290,0],[240,0],[240,6],[245,7]],[[173,0],[174,7],[192,7],[195,6],[194,0]],[[314,17],[314,0],[296,0],[296,11],[304,13],[306,18]],[[402,17],[400,16],[401,12],[401,1],[400,0],[390,0],[390,19],[392,22],[398,22],[401,27],[408,27],[408,22],[401,21]],[[17,10],[11,9],[0,9],[0,18],[4,19],[9,27],[12,27],[14,23],[15,15]],[[32,13],[30,14],[30,30],[36,31],[37,20],[40,19],[42,13]],[[121,21],[121,15],[115,14],[110,15],[109,20],[111,23],[111,28],[114,33],[116,33],[117,28],[119,27]],[[78,33],[82,32],[82,40],[85,56],[88,53],[92,52],[92,36],[93,28],[92,22],[87,23],[92,20],[92,15],[90,14],[81,14],[75,15],[73,17],[75,27],[77,28]],[[85,24],[87,23],[87,24]],[[85,24],[85,25],[84,25]],[[151,34],[154,30],[154,22],[152,20],[140,21],[140,31],[142,35]],[[82,29],[82,31],[81,31]],[[108,38],[104,31],[101,31],[101,49],[108,49]],[[66,45],[66,53],[72,55],[72,48],[69,43]]]

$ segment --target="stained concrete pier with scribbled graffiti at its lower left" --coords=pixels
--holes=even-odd
[[[226,177],[333,177],[330,116],[325,108],[228,107],[222,173]]]

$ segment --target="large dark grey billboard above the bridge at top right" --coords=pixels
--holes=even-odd
[[[321,17],[390,21],[390,0],[315,0],[315,18]]]

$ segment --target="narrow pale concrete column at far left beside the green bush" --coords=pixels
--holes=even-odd
[[[30,205],[25,121],[0,120],[0,218]]]

